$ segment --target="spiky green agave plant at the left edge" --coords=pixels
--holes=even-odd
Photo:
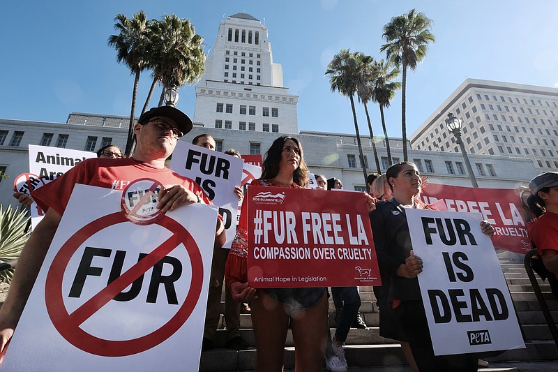
[[[29,239],[30,232],[26,232],[29,216],[24,209],[12,209],[8,204],[5,211],[0,204],[0,262],[9,262],[20,257],[23,246]],[[10,283],[13,277],[13,268],[0,271],[0,281]]]

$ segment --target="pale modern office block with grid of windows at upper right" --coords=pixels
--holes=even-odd
[[[558,171],[558,89],[467,79],[412,134],[412,147],[459,152],[446,128],[448,112],[462,119],[469,154],[529,158],[538,173]]]

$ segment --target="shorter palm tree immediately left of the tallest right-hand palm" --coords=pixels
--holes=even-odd
[[[385,64],[384,60],[375,61],[372,65],[372,80],[370,85],[372,86],[372,101],[379,105],[379,114],[382,117],[382,129],[384,130],[384,136],[386,137],[386,151],[388,153],[388,166],[391,166],[391,150],[389,148],[389,137],[388,131],[386,129],[386,120],[384,119],[384,107],[389,107],[390,102],[395,97],[395,91],[401,88],[400,82],[392,82],[399,75],[399,68],[393,68],[389,70],[389,64]]]

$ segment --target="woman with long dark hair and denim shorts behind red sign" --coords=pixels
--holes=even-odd
[[[262,178],[253,186],[306,188],[308,168],[302,145],[281,136],[271,144],[262,164]],[[326,288],[265,288],[248,286],[248,219],[246,199],[241,221],[227,258],[225,279],[238,302],[250,302],[256,341],[256,370],[282,371],[289,325],[295,348],[296,371],[320,371],[326,346]]]

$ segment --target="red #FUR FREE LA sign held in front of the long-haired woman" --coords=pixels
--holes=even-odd
[[[381,284],[362,193],[250,186],[246,198],[250,286]]]

